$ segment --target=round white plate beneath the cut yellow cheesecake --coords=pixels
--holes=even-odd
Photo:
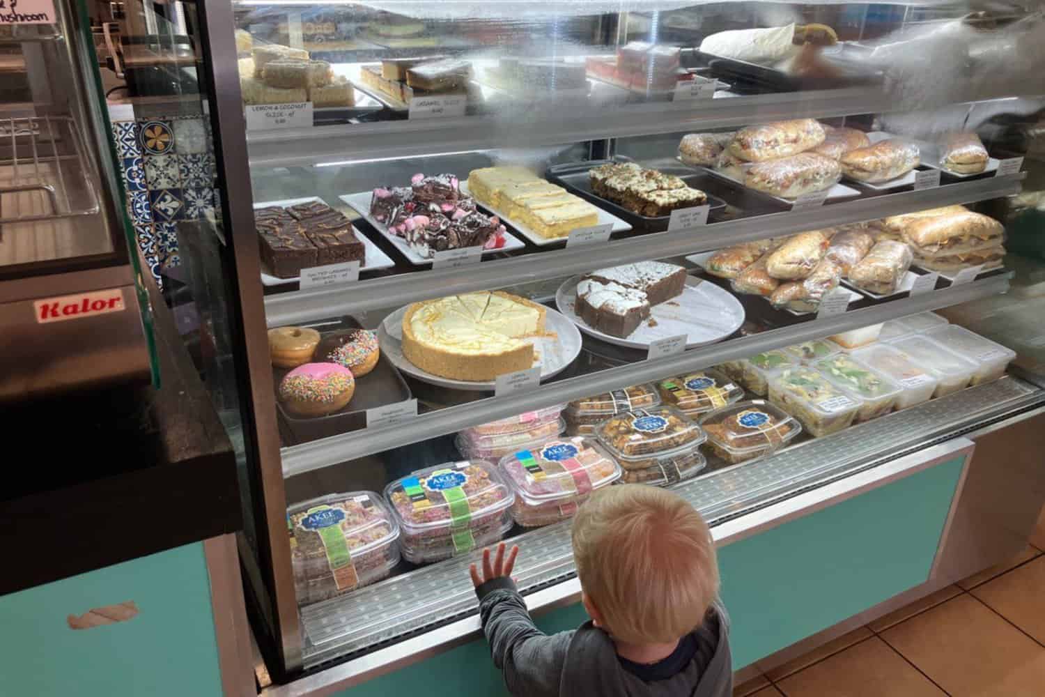
[[[409,307],[409,305],[407,306]],[[377,329],[377,340],[381,353],[392,362],[392,365],[411,377],[451,390],[493,390],[494,381],[474,382],[470,380],[455,380],[448,377],[433,375],[412,364],[402,354],[402,318],[407,307],[400,307],[385,318]],[[537,358],[535,366],[540,366],[540,379],[545,380],[565,370],[581,353],[581,334],[574,323],[554,309],[547,308],[545,329],[552,335],[528,339],[534,344]]]

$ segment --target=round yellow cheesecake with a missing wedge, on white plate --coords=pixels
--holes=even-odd
[[[492,380],[533,367],[526,339],[543,335],[544,322],[541,305],[500,291],[425,300],[407,308],[402,353],[433,375]]]

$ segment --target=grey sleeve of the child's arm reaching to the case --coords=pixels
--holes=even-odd
[[[520,697],[558,697],[574,632],[549,636],[537,629],[510,579],[494,579],[475,591],[493,665],[505,674],[508,692]]]

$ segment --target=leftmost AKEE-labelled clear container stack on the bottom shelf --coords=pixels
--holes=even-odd
[[[379,581],[399,563],[399,525],[372,491],[312,498],[288,508],[286,518],[300,605]]]

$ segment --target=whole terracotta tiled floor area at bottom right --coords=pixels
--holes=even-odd
[[[1045,697],[1045,511],[1031,544],[738,686],[737,697]]]

